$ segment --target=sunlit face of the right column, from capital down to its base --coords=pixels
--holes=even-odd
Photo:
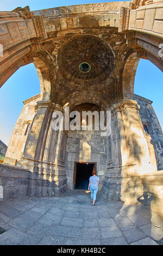
[[[143,185],[138,177],[155,170],[139,108],[135,100],[123,100],[112,107],[121,143],[121,200],[127,204],[139,203],[137,198],[143,193]]]

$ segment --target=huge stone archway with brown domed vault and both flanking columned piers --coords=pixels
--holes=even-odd
[[[162,1],[133,1],[0,13],[1,86],[31,62],[40,77],[41,100],[35,105],[17,163],[30,170],[29,195],[48,191],[59,196],[66,190],[67,132],[53,130],[53,112],[63,113],[67,102],[72,109],[79,103],[94,103],[111,111],[112,133],[105,143],[108,157],[103,174],[103,191],[109,199],[120,200],[121,193],[126,200],[128,182],[122,191],[118,178],[140,177],[145,168],[156,171],[150,163],[139,106],[131,95],[139,58],[162,69],[161,11]],[[80,72],[83,62],[90,65],[89,72]]]

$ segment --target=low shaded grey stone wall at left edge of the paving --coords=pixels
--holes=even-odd
[[[51,181],[49,176],[0,163],[0,200],[22,196],[58,196],[56,182]]]

